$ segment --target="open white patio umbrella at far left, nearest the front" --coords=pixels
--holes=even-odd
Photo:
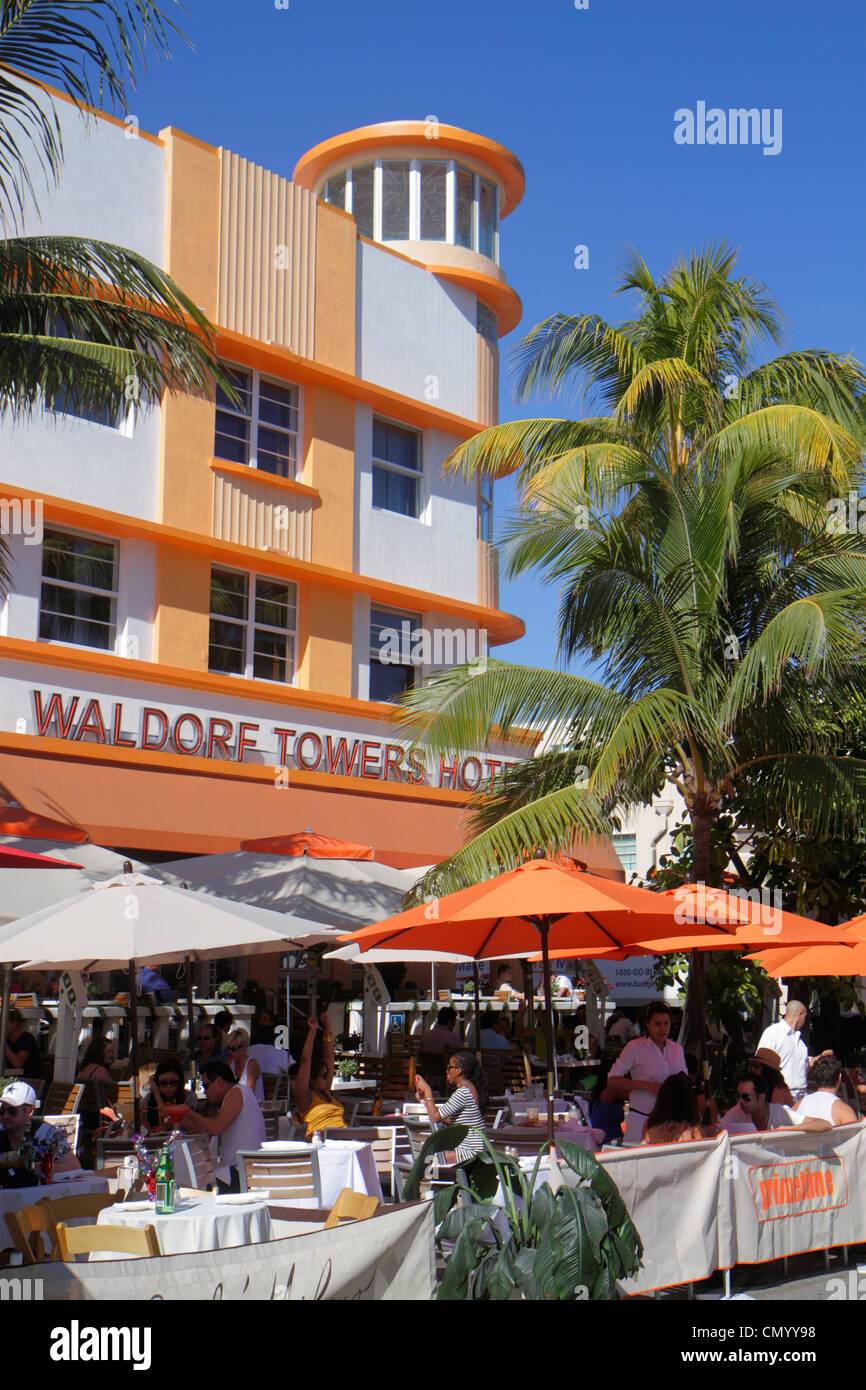
[[[124,873],[0,929],[0,960],[29,970],[128,969],[135,1062],[135,979],[140,965],[163,965],[178,956],[209,960],[228,951],[259,955],[338,935],[318,922],[213,898],[150,874]],[[138,1095],[135,1104],[138,1126]]]

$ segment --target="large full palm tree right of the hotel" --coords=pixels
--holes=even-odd
[[[767,816],[803,830],[862,817],[866,767],[835,756],[835,731],[863,694],[866,553],[826,505],[858,477],[865,378],[828,353],[749,366],[778,316],[731,267],[710,249],[656,286],[632,257],[634,322],[557,318],[523,345],[524,389],[584,368],[612,413],[499,425],[452,456],[463,473],[521,470],[510,569],[559,587],[560,651],[603,676],[488,663],[405,698],[435,748],[525,726],[556,742],[474,799],[475,837],[421,892],[609,833],[664,780],[706,883],[713,826],[756,781]]]

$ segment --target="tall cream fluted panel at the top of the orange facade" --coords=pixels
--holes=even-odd
[[[220,170],[220,325],[313,357],[316,199],[229,150]]]

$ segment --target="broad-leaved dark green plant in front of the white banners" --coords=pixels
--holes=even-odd
[[[456,1148],[468,1130],[432,1134],[406,1183],[420,1194],[427,1162]],[[445,1301],[506,1300],[578,1302],[613,1300],[617,1280],[641,1268],[644,1245],[613,1179],[585,1148],[560,1144],[575,1186],[538,1186],[545,1150],[527,1176],[487,1136],[484,1152],[459,1169],[457,1182],[434,1197],[439,1248],[453,1243],[436,1297]],[[502,1191],[505,1205],[491,1198]]]

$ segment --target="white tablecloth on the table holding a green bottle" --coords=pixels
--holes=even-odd
[[[271,1240],[271,1218],[267,1201],[235,1205],[218,1198],[182,1197],[178,1209],[160,1216],[154,1207],[149,1211],[129,1211],[122,1202],[99,1213],[100,1226],[156,1226],[164,1255],[181,1255],[195,1250],[228,1250],[232,1245],[253,1245]],[[97,1252],[92,1259],[114,1259],[108,1252]]]

